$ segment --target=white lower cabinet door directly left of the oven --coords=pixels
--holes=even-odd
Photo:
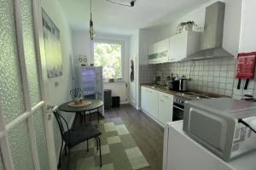
[[[172,106],[173,95],[159,94],[159,116],[158,119],[161,123],[172,122]]]

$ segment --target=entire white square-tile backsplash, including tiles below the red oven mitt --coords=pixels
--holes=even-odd
[[[156,76],[164,78],[177,74],[178,77],[190,77],[189,88],[213,94],[224,94],[241,99],[244,94],[256,97],[256,78],[250,81],[244,90],[245,80],[241,81],[241,89],[237,88],[236,59],[207,59],[189,62],[166,63],[160,65],[140,65],[140,82],[154,82]],[[256,71],[255,71],[256,74]]]

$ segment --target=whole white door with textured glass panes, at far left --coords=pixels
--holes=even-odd
[[[0,170],[56,169],[38,43],[40,11],[37,0],[0,0]]]

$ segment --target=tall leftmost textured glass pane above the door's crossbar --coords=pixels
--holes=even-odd
[[[0,104],[5,122],[25,112],[14,7],[14,0],[0,0]]]

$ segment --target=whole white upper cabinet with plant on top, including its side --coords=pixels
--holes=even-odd
[[[170,37],[169,62],[180,61],[200,49],[201,33],[184,31]]]

